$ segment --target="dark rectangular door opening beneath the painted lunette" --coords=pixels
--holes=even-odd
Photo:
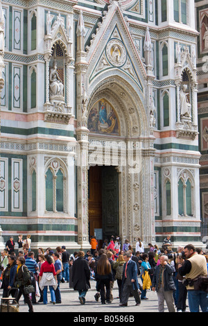
[[[91,166],[88,178],[89,237],[102,229],[103,240],[119,235],[119,180],[115,166]]]

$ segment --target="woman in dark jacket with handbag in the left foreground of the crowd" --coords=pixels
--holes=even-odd
[[[29,312],[33,311],[33,304],[31,302],[31,298],[29,293],[26,291],[26,287],[31,285],[31,274],[25,265],[25,259],[23,256],[17,257],[17,273],[15,275],[15,287],[19,289],[19,294],[17,296],[17,302],[19,303],[19,299],[21,295],[24,295],[24,302],[28,304]],[[34,289],[35,290],[35,289]]]

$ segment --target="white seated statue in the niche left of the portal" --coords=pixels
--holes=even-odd
[[[64,85],[58,76],[56,61],[53,62],[53,68],[50,69],[49,87],[51,96],[64,96]]]

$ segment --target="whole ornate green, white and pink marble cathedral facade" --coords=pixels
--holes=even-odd
[[[200,241],[194,8],[1,1],[4,241]]]

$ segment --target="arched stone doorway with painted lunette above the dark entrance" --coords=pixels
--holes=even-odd
[[[97,85],[89,98],[89,236],[100,228],[103,239],[119,235],[133,242],[146,233],[147,225],[150,230],[150,207],[144,200],[150,182],[144,175],[150,175],[153,164],[150,166],[150,153],[142,157],[144,114],[138,94],[119,76]],[[142,170],[141,160],[146,166]]]

